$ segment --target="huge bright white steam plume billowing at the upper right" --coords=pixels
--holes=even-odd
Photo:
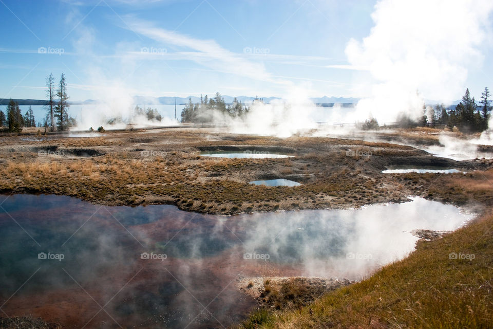
[[[467,68],[482,62],[492,9],[482,0],[379,1],[370,34],[346,48],[351,65],[368,69],[376,81],[356,117],[414,119],[423,115],[424,97],[446,102],[462,95]]]

